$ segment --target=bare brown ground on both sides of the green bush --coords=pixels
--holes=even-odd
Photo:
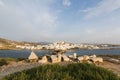
[[[70,64],[70,63],[73,63],[73,62],[60,62],[58,64],[66,65],[66,64]],[[46,63],[46,64],[49,64],[49,63]],[[33,67],[37,67],[40,65],[43,65],[43,64],[27,63],[25,61],[12,62],[9,65],[4,65],[4,66],[0,67],[0,78],[5,77],[9,74],[13,74],[15,72],[20,72],[20,71],[23,71],[26,69],[31,69]],[[104,57],[104,62],[99,64],[98,66],[112,70],[115,74],[120,76],[120,63],[109,61],[108,58],[105,59],[105,57]]]

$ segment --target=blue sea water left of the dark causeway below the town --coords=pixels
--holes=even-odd
[[[37,50],[34,51],[37,56],[43,56],[46,54],[52,54],[52,50]],[[0,57],[10,58],[27,58],[31,53],[31,50],[0,50]]]

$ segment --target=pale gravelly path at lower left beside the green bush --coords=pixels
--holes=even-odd
[[[3,78],[9,74],[13,74],[15,72],[23,71],[26,69],[31,69],[33,67],[40,66],[39,63],[14,63],[8,66],[0,67],[0,78]]]

